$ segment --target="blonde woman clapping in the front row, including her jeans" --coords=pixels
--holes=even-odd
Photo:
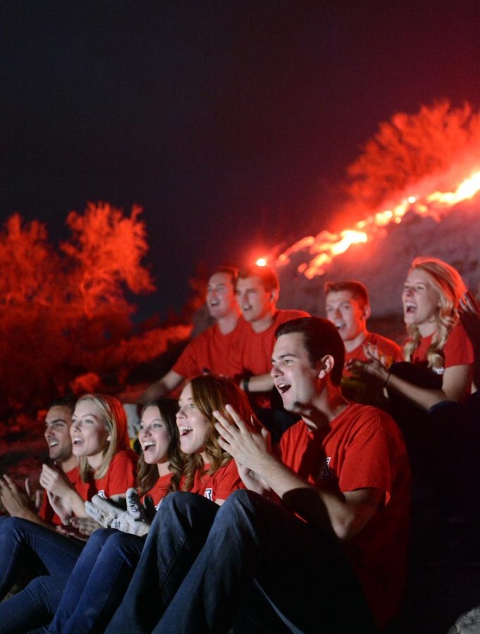
[[[137,456],[128,446],[125,411],[102,394],[86,394],[75,405],[70,430],[73,452],[80,459],[80,480],[73,488],[54,468],[44,465],[40,483],[63,523],[74,523],[90,535],[99,528],[85,511],[85,500],[97,492],[105,498],[125,495],[135,485]],[[78,534],[78,533],[77,533]],[[25,590],[0,604],[5,634],[44,626],[51,620],[61,590],[83,543],[19,518],[0,523],[0,597],[27,565],[35,576]],[[25,564],[27,562],[27,564]]]

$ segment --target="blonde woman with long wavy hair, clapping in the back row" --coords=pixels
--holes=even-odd
[[[465,291],[453,266],[436,258],[414,259],[402,303],[409,335],[405,360],[417,367],[410,373],[395,372],[396,364],[386,368],[371,351],[369,361],[354,362],[352,367],[378,378],[389,393],[395,392],[424,411],[443,401],[461,402],[469,392],[474,360],[459,318]],[[428,372],[420,373],[419,368]]]

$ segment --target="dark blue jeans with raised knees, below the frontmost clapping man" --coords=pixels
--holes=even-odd
[[[273,633],[376,631],[338,542],[243,490],[164,499],[106,632],[224,633],[239,610]]]

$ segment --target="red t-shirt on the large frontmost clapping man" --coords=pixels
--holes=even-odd
[[[349,404],[327,432],[295,423],[283,434],[280,452],[287,466],[320,489],[385,492],[383,506],[343,542],[377,623],[385,625],[398,612],[407,563],[410,469],[397,426],[379,409]]]

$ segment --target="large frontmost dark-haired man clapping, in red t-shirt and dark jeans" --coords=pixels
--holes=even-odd
[[[216,414],[221,447],[250,490],[220,509],[169,495],[139,564],[156,566],[159,583],[130,586],[107,633],[135,619],[155,634],[228,631],[240,610],[267,631],[365,634],[398,609],[409,502],[400,432],[383,411],[343,399],[343,342],[331,323],[300,318],[276,334],[271,375],[302,420],[278,457],[231,407],[229,420]]]

